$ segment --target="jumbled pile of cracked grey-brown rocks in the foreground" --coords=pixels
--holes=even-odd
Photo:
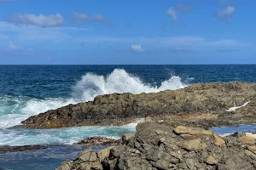
[[[97,152],[84,150],[56,170],[256,169],[256,140],[245,133],[221,138],[203,128],[144,122],[130,137]]]

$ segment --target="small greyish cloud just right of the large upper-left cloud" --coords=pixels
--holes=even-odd
[[[105,19],[102,14],[95,14],[89,16],[88,14],[81,14],[77,12],[72,13],[72,20],[75,23],[82,24],[84,22],[104,22]]]

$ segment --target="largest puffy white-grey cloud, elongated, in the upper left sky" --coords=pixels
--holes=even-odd
[[[7,18],[7,21],[17,25],[32,25],[41,27],[61,26],[64,18],[61,14],[14,14]]]

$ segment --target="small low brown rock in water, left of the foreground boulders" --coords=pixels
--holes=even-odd
[[[119,144],[119,139],[108,139],[104,137],[91,137],[84,140],[79,141],[78,144],[84,145],[110,145],[110,144]]]

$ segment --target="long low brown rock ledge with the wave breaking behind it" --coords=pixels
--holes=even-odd
[[[151,94],[106,94],[93,101],[46,111],[22,122],[29,128],[124,125],[138,118],[199,127],[255,122],[256,83],[199,83]],[[235,112],[227,110],[248,105]],[[183,122],[181,122],[183,121]]]

